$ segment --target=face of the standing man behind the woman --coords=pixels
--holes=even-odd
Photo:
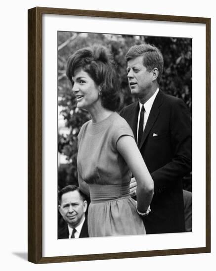
[[[153,73],[143,66],[144,56],[139,56],[128,61],[128,82],[132,95],[139,99],[148,96],[153,84]]]

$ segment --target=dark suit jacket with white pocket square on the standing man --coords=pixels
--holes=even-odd
[[[120,115],[137,134],[138,102]],[[157,136],[153,136],[156,134]],[[184,232],[181,179],[191,171],[191,119],[186,104],[159,91],[139,146],[154,181],[151,213],[143,218],[147,234]]]

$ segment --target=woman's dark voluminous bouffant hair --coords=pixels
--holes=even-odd
[[[66,74],[72,81],[75,72],[82,68],[95,84],[101,87],[101,104],[115,111],[119,107],[119,80],[111,54],[101,45],[85,47],[76,51],[69,59]]]

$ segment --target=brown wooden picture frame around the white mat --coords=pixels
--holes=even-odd
[[[202,24],[206,29],[206,245],[202,247],[43,257],[43,14]],[[35,7],[28,10],[28,261],[36,264],[211,251],[211,19]]]

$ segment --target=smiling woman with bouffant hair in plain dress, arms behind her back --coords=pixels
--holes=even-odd
[[[102,46],[76,51],[66,74],[77,107],[88,110],[78,135],[78,180],[90,196],[89,237],[143,235],[140,215],[146,215],[154,183],[137,148],[128,123],[115,111],[119,82],[111,55]],[[136,179],[136,199],[130,197],[131,174]]]

